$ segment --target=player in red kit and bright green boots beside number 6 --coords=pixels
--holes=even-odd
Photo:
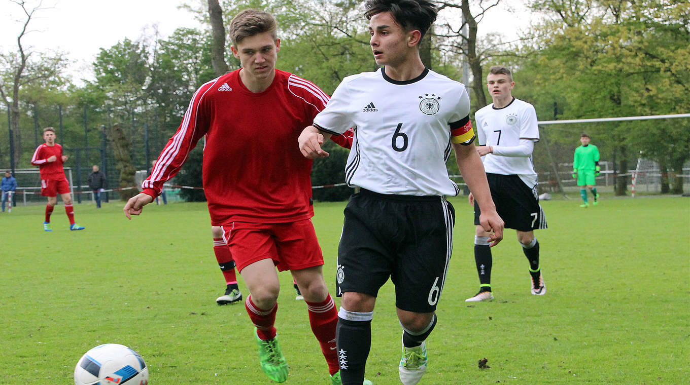
[[[306,300],[311,329],[341,384],[335,350],[337,311],[324,282],[323,256],[311,217],[312,161],[296,148],[302,127],[328,101],[316,85],[275,69],[280,40],[272,15],[244,10],[230,23],[231,50],[242,68],[201,85],[158,157],[127,218],[160,194],[200,138],[206,138],[202,177],[212,226],[222,227],[250,294],[262,369],[284,382],[288,366],[275,329],[279,271],[290,270]]]

